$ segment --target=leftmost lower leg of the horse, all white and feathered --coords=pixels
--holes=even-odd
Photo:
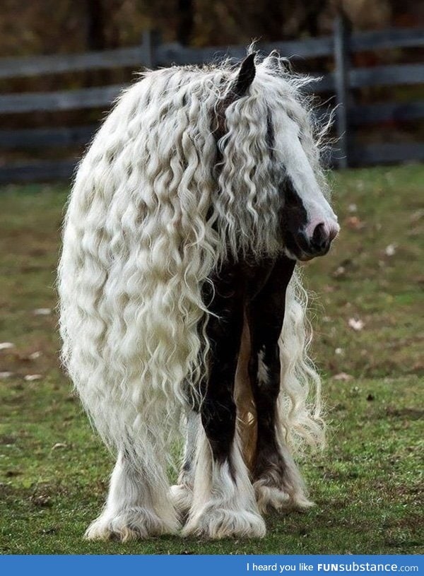
[[[110,478],[105,508],[88,527],[86,538],[127,541],[174,534],[179,522],[168,489],[167,478],[158,462],[152,460],[149,464],[146,460],[143,464],[134,464],[129,454],[120,452]]]

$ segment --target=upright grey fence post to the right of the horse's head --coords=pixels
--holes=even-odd
[[[349,134],[348,134],[348,106],[349,106],[349,67],[351,24],[346,15],[340,11],[334,20],[334,81],[336,86],[336,131],[340,158],[337,159],[339,168],[349,165]]]

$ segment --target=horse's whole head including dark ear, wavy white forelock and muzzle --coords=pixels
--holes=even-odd
[[[222,138],[225,131],[232,135],[232,148],[225,148],[227,143],[222,145],[221,141],[228,167],[221,172],[220,187],[229,189],[229,211],[238,206],[233,189],[243,190],[247,210],[240,210],[237,216],[245,236],[249,234],[249,221],[257,242],[261,241],[268,230],[257,223],[264,215],[264,222],[278,236],[278,249],[283,247],[291,259],[310,260],[329,251],[339,227],[319,184],[316,143],[307,110],[293,96],[295,90],[288,81],[277,74],[278,58],[276,66],[272,58],[270,55],[257,69],[254,54],[249,54],[220,100],[216,138]],[[276,74],[270,74],[271,69],[276,69]],[[255,158],[257,163],[253,166]],[[267,186],[272,194],[267,196],[267,204],[261,204],[254,192],[256,189],[257,196],[264,192],[266,197],[268,191],[263,188]],[[269,217],[267,209],[276,218]],[[232,218],[237,220],[234,213]],[[235,229],[233,222],[228,226],[231,228]]]

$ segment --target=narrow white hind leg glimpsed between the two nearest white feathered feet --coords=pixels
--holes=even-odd
[[[196,461],[196,445],[201,428],[200,414],[192,408],[187,409],[186,438],[184,455],[177,484],[171,486],[171,500],[179,516],[187,517],[193,500],[194,466]]]

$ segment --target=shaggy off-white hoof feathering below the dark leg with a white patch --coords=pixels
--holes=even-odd
[[[264,480],[256,481],[253,488],[258,508],[262,514],[270,509],[289,512],[290,510],[306,510],[314,506],[314,502],[308,500],[302,490],[289,492],[282,488],[269,486]]]

